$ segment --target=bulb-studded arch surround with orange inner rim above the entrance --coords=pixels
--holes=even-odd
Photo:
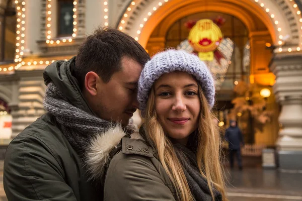
[[[260,19],[267,27],[274,44],[286,45],[281,51],[300,51],[302,42],[301,12],[294,1],[274,0],[262,3],[259,0],[134,0],[129,3],[121,16],[117,28],[137,39],[142,46],[159,22],[172,13],[187,15],[189,7],[195,12],[223,12],[240,19],[251,34],[257,31],[255,19]],[[183,16],[182,16],[183,17]],[[169,25],[167,25],[169,27]],[[282,38],[286,36],[286,44]],[[281,38],[281,42],[280,42]],[[300,48],[297,48],[300,47]]]

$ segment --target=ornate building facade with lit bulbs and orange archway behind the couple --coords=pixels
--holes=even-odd
[[[260,90],[269,89],[265,109],[271,111],[270,121],[253,130],[251,142],[276,146],[280,168],[302,169],[302,162],[297,162],[302,161],[302,0],[1,0],[0,4],[7,8],[1,27],[1,139],[16,137],[45,113],[43,69],[75,56],[94,28],[119,29],[153,55],[167,47],[185,48],[181,44],[189,30],[183,24],[219,17],[225,20],[220,27],[224,37],[233,44],[226,69],[219,74],[219,120],[226,124],[228,114],[222,109],[235,98],[233,89],[240,81],[251,88],[244,97],[254,108]],[[243,113],[236,114],[251,132],[257,124],[251,123],[251,114],[246,118],[250,121]]]

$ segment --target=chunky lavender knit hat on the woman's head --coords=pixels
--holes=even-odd
[[[207,99],[210,108],[214,105],[215,86],[213,77],[204,62],[183,50],[167,50],[156,54],[143,68],[138,80],[137,99],[144,116],[149,92],[154,82],[163,74],[183,71],[192,74]]]

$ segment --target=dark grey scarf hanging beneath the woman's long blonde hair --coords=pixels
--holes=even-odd
[[[176,154],[183,165],[183,171],[187,178],[190,190],[196,201],[210,201],[212,200],[210,188],[206,178],[204,178],[198,169],[196,154],[189,148],[174,144]],[[214,187],[212,187],[215,196],[215,201],[222,200],[222,195]]]

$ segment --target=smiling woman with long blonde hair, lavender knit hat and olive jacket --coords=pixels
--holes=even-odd
[[[226,200],[214,95],[213,78],[197,56],[168,50],[148,61],[138,88],[140,136],[125,136],[112,151],[116,138],[110,163],[101,160],[99,172],[108,167],[105,200]],[[100,156],[92,156],[100,167]]]

